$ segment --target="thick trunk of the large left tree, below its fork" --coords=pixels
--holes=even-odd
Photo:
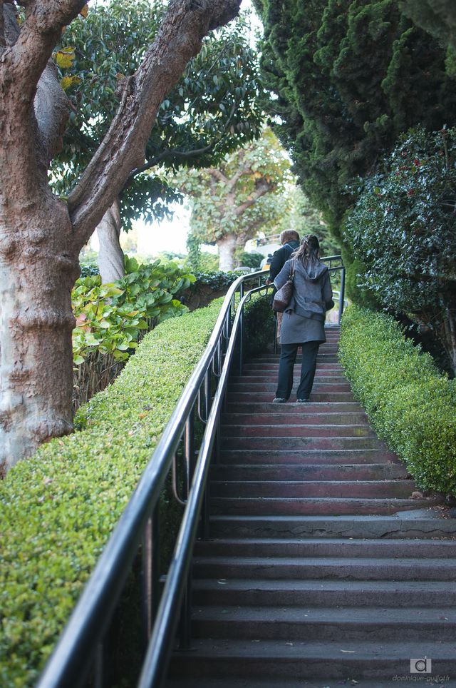
[[[40,442],[73,429],[71,288],[78,259],[68,251],[66,206],[51,194],[33,208],[30,226],[20,203],[2,209],[8,217],[1,213],[0,466],[8,470]]]

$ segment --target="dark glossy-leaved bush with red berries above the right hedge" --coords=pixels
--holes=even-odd
[[[344,226],[363,261],[360,284],[390,310],[413,313],[433,329],[454,366],[456,129],[411,130],[383,168],[358,188]]]

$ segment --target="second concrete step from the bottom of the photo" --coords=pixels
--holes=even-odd
[[[456,610],[408,607],[195,607],[196,638],[244,638],[284,641],[446,641],[456,637]]]

